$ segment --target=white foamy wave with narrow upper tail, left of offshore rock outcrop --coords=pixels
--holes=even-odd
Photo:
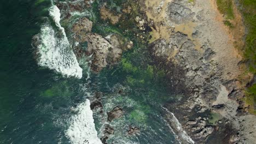
[[[56,70],[62,75],[82,78],[82,68],[71,50],[65,29],[60,25],[60,10],[53,5],[49,9],[50,16],[59,28],[55,32],[49,23],[45,23],[40,33],[35,35],[33,46],[37,47],[38,65]]]

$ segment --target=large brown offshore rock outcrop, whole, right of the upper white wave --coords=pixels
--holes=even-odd
[[[117,34],[103,38],[99,34],[91,33],[91,28],[92,22],[83,17],[74,23],[72,31],[77,45],[75,49],[82,49],[82,44],[87,44],[85,54],[91,56],[91,70],[95,73],[117,63],[123,51],[132,49],[132,41],[127,41]]]

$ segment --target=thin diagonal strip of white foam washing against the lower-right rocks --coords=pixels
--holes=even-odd
[[[186,133],[186,131],[182,129],[181,123],[179,123],[178,119],[173,115],[173,113],[168,111],[165,107],[162,107],[162,109],[167,112],[168,121],[172,130],[176,133],[177,138],[181,140],[182,143],[195,143]]]

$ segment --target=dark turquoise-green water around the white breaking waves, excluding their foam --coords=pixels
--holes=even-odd
[[[115,134],[109,143],[177,143],[162,110],[162,105],[177,95],[173,97],[162,83],[164,76],[148,63],[147,53],[138,55],[146,50],[143,45],[126,52],[113,68],[91,73],[89,79],[86,63],[80,63],[82,79],[38,65],[32,37],[40,32],[44,17],[50,17],[50,7],[50,1],[1,2],[0,143],[72,143],[67,130],[77,115],[73,109],[95,92],[103,92],[104,112],[117,105],[125,111],[110,123]],[[94,111],[98,137],[102,136],[102,118],[106,115]],[[139,127],[141,134],[127,136],[129,125]]]

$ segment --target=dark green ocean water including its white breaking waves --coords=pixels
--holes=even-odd
[[[147,80],[150,75],[145,83],[140,80],[143,86],[137,86],[127,80],[141,76],[127,75],[120,64],[91,73],[89,63],[75,57],[61,11],[54,4],[1,2],[0,143],[100,144],[104,124],[115,129],[108,143],[169,144],[184,137],[193,143],[181,128],[177,134],[166,122],[165,113],[170,112],[162,108],[163,101],[172,100],[173,95],[156,88],[160,84]],[[120,89],[123,94],[118,93]],[[95,92],[103,92],[103,115],[90,109]],[[106,113],[118,105],[124,116],[107,122]],[[173,123],[181,127],[175,117]],[[140,134],[127,135],[129,125],[139,127]]]

